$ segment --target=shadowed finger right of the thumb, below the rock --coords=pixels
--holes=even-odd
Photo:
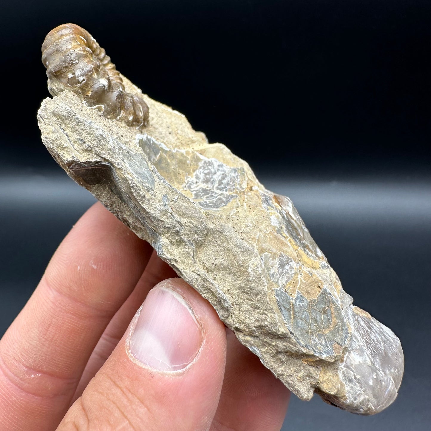
[[[290,391],[231,330],[226,335],[225,380],[212,430],[279,430]]]

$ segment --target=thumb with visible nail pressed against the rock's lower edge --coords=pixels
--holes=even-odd
[[[181,278],[147,296],[59,430],[208,430],[222,387],[226,332]]]

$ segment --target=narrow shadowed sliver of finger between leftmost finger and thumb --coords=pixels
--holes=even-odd
[[[147,297],[148,292],[160,281],[172,277],[176,277],[175,271],[166,262],[163,262],[153,250],[150,261],[133,292],[116,312],[111,322],[109,322],[93,353],[91,353],[91,357],[85,366],[85,370],[73,396],[72,403],[81,397],[88,382],[96,375],[112,353],[112,350],[119,343],[137,309]]]

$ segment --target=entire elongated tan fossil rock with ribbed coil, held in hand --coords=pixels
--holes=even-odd
[[[56,96],[42,102],[38,121],[56,161],[148,240],[298,397],[316,392],[359,414],[392,403],[403,375],[400,341],[352,305],[290,199],[266,190],[227,147],[209,144],[183,115],[113,72],[98,49],[75,25],[44,42]],[[133,127],[144,120],[124,121],[131,112],[125,95],[150,107],[146,128]]]

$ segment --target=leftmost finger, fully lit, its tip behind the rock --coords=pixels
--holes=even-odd
[[[77,222],[0,341],[0,429],[55,428],[151,247],[100,203]]]

